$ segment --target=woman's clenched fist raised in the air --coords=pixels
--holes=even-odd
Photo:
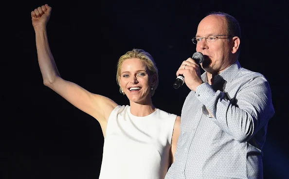
[[[41,7],[37,7],[34,11],[31,11],[31,18],[32,18],[32,25],[34,28],[46,26],[50,14],[51,14],[52,7],[48,6],[47,4],[42,5]]]

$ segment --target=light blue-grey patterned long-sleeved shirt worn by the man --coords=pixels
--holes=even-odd
[[[206,72],[201,77],[205,83],[183,104],[175,162],[165,179],[262,179],[262,147],[275,113],[268,81],[238,61],[212,86]]]

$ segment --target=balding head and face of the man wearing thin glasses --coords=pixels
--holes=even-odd
[[[240,39],[230,31],[230,22],[224,14],[210,14],[199,22],[196,50],[205,56],[201,66],[206,72],[218,74],[238,58]]]

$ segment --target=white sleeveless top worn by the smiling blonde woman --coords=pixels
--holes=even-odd
[[[177,115],[137,117],[117,106],[108,118],[99,179],[164,179]]]

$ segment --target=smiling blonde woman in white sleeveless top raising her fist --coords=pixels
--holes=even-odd
[[[174,161],[181,117],[154,107],[158,70],[150,54],[133,49],[118,61],[117,82],[129,106],[62,79],[48,44],[47,4],[31,12],[44,85],[90,114],[105,137],[100,179],[163,179]]]

